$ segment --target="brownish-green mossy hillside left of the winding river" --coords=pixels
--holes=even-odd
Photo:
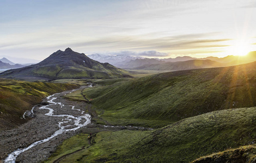
[[[25,123],[26,120],[21,120],[20,117],[26,110],[39,104],[42,98],[77,87],[74,84],[0,79],[0,130]]]

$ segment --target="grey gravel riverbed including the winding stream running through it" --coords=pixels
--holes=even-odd
[[[63,140],[90,123],[90,115],[84,113],[85,103],[62,98],[73,91],[48,96],[44,99],[46,105],[34,106],[23,115],[33,116],[31,121],[0,133],[0,154],[7,156],[5,163],[44,160]]]

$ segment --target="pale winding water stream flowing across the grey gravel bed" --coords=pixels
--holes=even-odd
[[[72,91],[75,91],[75,90],[72,90]],[[41,106],[39,109],[48,110],[48,112],[45,114],[46,116],[63,117],[63,119],[58,122],[59,129],[57,131],[55,131],[55,133],[52,134],[50,137],[47,137],[46,139],[36,141],[36,142],[32,143],[31,145],[29,145],[26,148],[17,149],[16,151],[10,153],[8,155],[8,157],[4,160],[5,163],[15,163],[15,160],[16,160],[17,156],[19,156],[22,152],[25,152],[28,149],[31,149],[36,145],[47,142],[47,141],[51,140],[53,137],[56,137],[57,135],[60,135],[62,133],[68,132],[68,131],[75,131],[75,130],[77,130],[81,127],[84,127],[84,126],[86,126],[87,124],[90,123],[90,115],[89,114],[84,114],[84,111],[82,111],[80,109],[75,109],[75,106],[72,106],[72,105],[64,105],[60,102],[54,102],[54,101],[56,101],[57,98],[60,98],[60,97],[55,97],[58,94],[59,93],[48,96],[47,97],[47,102],[50,103],[50,104]],[[63,108],[63,106],[68,106],[68,107],[70,107],[71,110],[80,111],[81,114],[79,114],[79,115],[68,115],[68,114],[67,115],[65,115],[65,114],[55,115],[54,114],[55,110],[52,109],[53,108],[52,106],[56,106],[56,105],[59,105],[60,108]],[[34,114],[33,110],[34,110],[34,107],[30,111],[32,114]],[[25,118],[25,114],[23,115],[23,117]]]

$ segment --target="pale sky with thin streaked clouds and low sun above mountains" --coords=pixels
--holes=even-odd
[[[0,0],[0,57],[225,57],[256,51],[255,0]]]

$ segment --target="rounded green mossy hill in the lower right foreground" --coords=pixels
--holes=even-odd
[[[120,162],[190,162],[249,145],[256,139],[256,108],[228,109],[186,118],[153,131],[119,156]]]

